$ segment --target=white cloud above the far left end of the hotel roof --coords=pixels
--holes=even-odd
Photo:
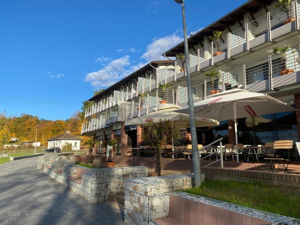
[[[84,80],[96,88],[106,88],[130,73],[131,70],[126,69],[130,65],[129,59],[129,55],[114,59],[101,70],[86,74]]]

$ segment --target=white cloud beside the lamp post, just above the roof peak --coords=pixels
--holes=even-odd
[[[142,55],[142,58],[146,59],[147,61],[164,59],[161,54],[179,44],[181,41],[183,41],[183,38],[176,34],[168,35],[162,38],[154,38],[153,42],[148,44],[147,50]]]

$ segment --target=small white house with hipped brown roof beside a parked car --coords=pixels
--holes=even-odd
[[[48,149],[52,147],[63,148],[64,145],[70,145],[72,151],[80,150],[80,142],[83,139],[77,137],[73,134],[70,134],[70,131],[67,131],[65,134],[58,134],[54,137],[48,138],[46,141],[48,142]]]

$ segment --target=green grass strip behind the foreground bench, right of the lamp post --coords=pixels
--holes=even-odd
[[[300,188],[259,182],[212,181],[184,190],[236,205],[300,219]]]

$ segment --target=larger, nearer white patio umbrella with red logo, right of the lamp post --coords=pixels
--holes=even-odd
[[[235,142],[238,143],[236,119],[249,116],[296,111],[295,108],[267,94],[233,89],[214,94],[210,98],[194,103],[195,116],[209,117],[217,121],[234,120]],[[188,114],[188,107],[173,110]],[[237,154],[238,162],[238,154]]]

